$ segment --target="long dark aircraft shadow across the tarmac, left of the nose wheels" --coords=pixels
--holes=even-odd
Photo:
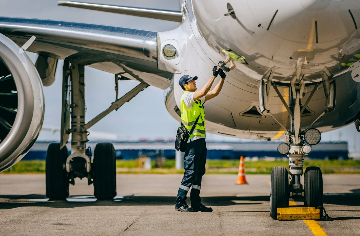
[[[0,195],[0,209],[18,207],[74,208],[87,206],[162,206],[175,205],[175,196],[117,196],[112,201],[95,201],[94,196],[71,196],[67,201],[49,201],[44,195]],[[188,198],[190,204],[190,199]],[[202,197],[202,203],[211,206],[256,205],[269,201],[269,196]]]

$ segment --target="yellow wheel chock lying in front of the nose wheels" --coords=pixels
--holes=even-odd
[[[315,207],[279,207],[279,221],[320,219],[320,209]]]

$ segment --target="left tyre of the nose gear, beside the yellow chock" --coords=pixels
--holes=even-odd
[[[278,207],[289,207],[289,177],[285,167],[274,167],[270,182],[270,216],[278,217]]]

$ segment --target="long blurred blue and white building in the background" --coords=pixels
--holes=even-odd
[[[166,159],[175,159],[174,141],[111,141],[116,150],[116,158],[131,160],[139,155],[146,155],[155,159],[159,153]],[[36,142],[23,160],[45,160],[46,149],[51,141]],[[98,142],[88,142],[94,151]],[[278,153],[279,141],[247,141],[214,142],[207,141],[208,159],[239,159],[244,157],[286,157]],[[68,145],[68,150],[70,146]],[[320,142],[312,146],[312,152],[307,155],[311,159],[348,159],[347,142]]]

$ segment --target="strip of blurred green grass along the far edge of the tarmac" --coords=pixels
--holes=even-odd
[[[207,160],[206,173],[236,174],[238,173],[238,160]],[[288,160],[258,160],[245,162],[247,174],[270,174],[275,166],[288,168]],[[304,170],[308,166],[318,166],[324,174],[350,173],[360,174],[360,160],[305,160]],[[117,160],[117,173],[152,173],[175,174],[184,173],[184,170],[175,169],[175,160],[165,160],[163,168],[155,168],[156,162],[152,161],[152,169],[139,168],[138,160]],[[2,173],[45,173],[45,161],[23,160]]]

